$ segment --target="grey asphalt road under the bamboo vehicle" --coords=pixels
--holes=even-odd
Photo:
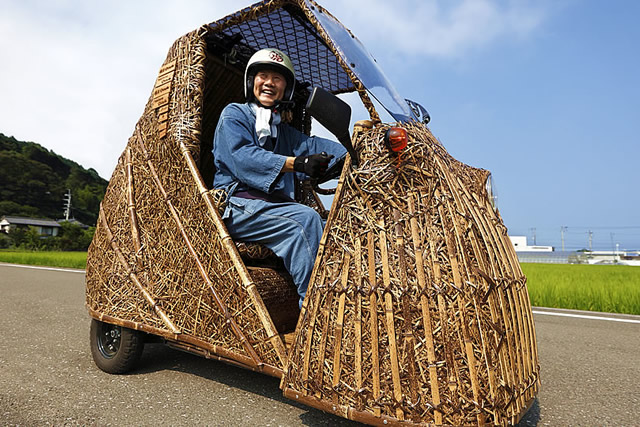
[[[543,384],[520,425],[640,425],[640,316],[535,311]],[[285,399],[275,378],[161,344],[132,374],[103,373],[82,272],[0,264],[0,326],[2,425],[356,425]]]

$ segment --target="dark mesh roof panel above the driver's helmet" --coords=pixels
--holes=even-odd
[[[214,22],[211,28],[214,31],[216,27],[224,28],[228,21],[247,13],[251,8]],[[252,51],[267,47],[284,51],[294,64],[298,81],[309,82],[312,86],[320,86],[334,93],[355,89],[315,27],[294,6],[287,5],[253,20],[231,25],[224,28],[222,33],[226,36],[242,35],[241,43]]]

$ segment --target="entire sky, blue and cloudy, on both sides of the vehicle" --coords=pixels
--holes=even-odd
[[[171,43],[250,3],[0,0],[0,132],[109,178]],[[510,234],[640,249],[640,2],[320,4],[492,171]]]

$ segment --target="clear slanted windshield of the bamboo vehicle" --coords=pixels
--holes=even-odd
[[[415,117],[407,102],[396,92],[387,77],[378,66],[376,60],[362,45],[357,37],[327,13],[322,13],[309,0],[307,6],[333,40],[342,59],[360,79],[367,91],[399,122],[406,122]]]

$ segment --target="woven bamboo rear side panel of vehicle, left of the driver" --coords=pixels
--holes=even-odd
[[[94,317],[195,342],[279,375],[284,345],[198,174],[205,88],[202,31],[166,64],[167,132],[152,96],[113,173],[87,265]]]

